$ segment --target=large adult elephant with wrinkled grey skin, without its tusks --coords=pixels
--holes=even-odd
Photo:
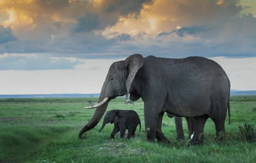
[[[134,54],[114,62],[107,73],[98,103],[99,106],[91,120],[79,132],[94,128],[101,120],[108,103],[115,97],[124,96],[126,100],[144,102],[144,121],[146,139],[170,143],[162,133],[162,118],[165,112],[178,117],[194,117],[195,133],[192,144],[203,142],[199,134],[204,132],[204,124],[212,119],[216,135],[225,132],[227,108],[230,122],[230,81],[222,67],[205,57],[186,57],[171,59]]]

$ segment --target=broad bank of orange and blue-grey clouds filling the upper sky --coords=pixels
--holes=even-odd
[[[256,18],[247,12],[250,6],[241,4],[239,0],[2,0],[0,13],[6,19],[0,24],[11,34],[4,39],[0,35],[0,53],[254,57]],[[7,36],[13,36],[12,41]]]

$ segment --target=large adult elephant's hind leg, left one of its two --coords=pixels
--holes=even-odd
[[[192,140],[189,141],[191,144],[195,145],[195,144],[200,144],[200,143],[204,142],[204,135],[203,135],[204,134],[204,124],[208,118],[209,118],[208,115],[194,117],[195,133],[194,133]]]

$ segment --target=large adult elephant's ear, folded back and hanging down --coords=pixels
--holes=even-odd
[[[140,54],[133,54],[125,60],[128,64],[128,78],[126,79],[126,100],[130,93],[131,82],[133,81],[137,71],[143,66],[143,56]]]

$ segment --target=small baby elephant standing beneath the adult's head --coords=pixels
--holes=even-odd
[[[116,133],[120,131],[120,137],[125,138],[125,130],[128,129],[128,136],[127,138],[130,139],[131,137],[135,136],[135,131],[140,124],[140,117],[134,110],[117,110],[113,109],[106,113],[104,117],[104,121],[101,127],[101,130],[105,127],[106,124],[113,124],[115,125],[110,139],[114,139]],[[140,126],[141,127],[141,126]],[[101,132],[100,130],[100,132]]]

